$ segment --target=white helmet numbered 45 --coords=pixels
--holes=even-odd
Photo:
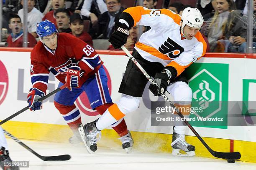
[[[180,25],[182,34],[185,25],[192,28],[201,28],[203,22],[204,18],[202,17],[200,10],[191,7],[185,8],[182,13],[182,25]]]

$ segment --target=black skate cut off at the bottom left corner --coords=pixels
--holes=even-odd
[[[9,157],[8,150],[5,150],[4,147],[0,148],[0,166],[3,170],[19,170],[18,166],[10,166],[13,161]]]

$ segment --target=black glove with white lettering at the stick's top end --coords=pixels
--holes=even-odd
[[[129,35],[128,29],[127,25],[115,21],[115,31],[108,40],[114,48],[120,48],[126,43]]]

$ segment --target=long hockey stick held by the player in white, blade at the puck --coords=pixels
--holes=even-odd
[[[133,63],[141,70],[141,72],[143,73],[143,75],[146,76],[146,78],[148,79],[149,82],[151,83],[155,83],[154,80],[148,75],[148,73],[143,69],[143,67],[141,67],[141,65],[138,63],[138,61],[131,55],[131,53],[125,48],[125,46],[121,47],[122,50],[125,52],[126,55],[128,55],[128,57],[133,61]],[[169,104],[175,108],[174,104],[169,100],[169,98],[163,94],[162,97],[164,97],[164,99],[166,101],[169,102]],[[177,110],[177,109],[175,109]],[[180,112],[177,112],[178,115],[180,117],[184,117]],[[222,159],[231,159],[231,160],[238,160],[241,158],[241,154],[239,152],[233,152],[233,153],[224,153],[224,152],[217,152],[212,150],[207,143],[205,143],[205,141],[201,138],[201,136],[197,133],[197,131],[189,124],[189,122],[187,120],[184,120],[184,122],[186,123],[186,125],[189,127],[190,130],[192,130],[192,132],[196,135],[196,137],[201,141],[201,143],[205,146],[205,148],[212,154],[212,156],[216,157],[216,158],[222,158]]]

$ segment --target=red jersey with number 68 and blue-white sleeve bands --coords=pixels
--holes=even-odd
[[[62,83],[65,83],[67,69],[79,66],[84,72],[80,78],[81,86],[88,77],[99,70],[102,65],[100,56],[84,41],[68,33],[59,33],[54,52],[42,42],[38,42],[31,52],[32,86],[46,91],[49,72]]]

